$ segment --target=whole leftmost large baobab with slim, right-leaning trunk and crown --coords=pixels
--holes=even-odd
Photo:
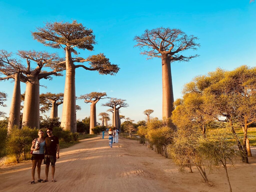
[[[5,50],[0,50],[0,77],[1,80],[14,80],[13,97],[10,106],[8,119],[8,131],[14,125],[19,127],[20,123],[20,82],[26,82],[28,79],[22,74],[26,70],[21,61],[13,58],[12,52],[8,53]]]

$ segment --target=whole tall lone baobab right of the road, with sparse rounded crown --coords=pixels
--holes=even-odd
[[[163,118],[170,118],[173,108],[173,86],[171,75],[171,63],[173,61],[189,61],[198,55],[183,56],[185,50],[196,50],[200,44],[196,43],[198,38],[194,35],[188,36],[180,29],[159,27],[152,30],[146,29],[141,36],[135,36],[137,42],[135,47],[144,50],[142,55],[148,59],[158,57],[162,59],[162,84],[163,84]]]

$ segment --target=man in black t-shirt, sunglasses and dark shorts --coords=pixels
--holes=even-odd
[[[47,129],[47,135],[48,137],[45,138],[45,159],[44,159],[46,178],[45,180],[42,181],[42,183],[45,183],[48,181],[50,163],[51,163],[51,177],[52,177],[51,181],[56,182],[56,180],[54,179],[55,163],[56,163],[56,159],[60,158],[59,157],[59,151],[60,151],[59,138],[52,134],[51,128]]]

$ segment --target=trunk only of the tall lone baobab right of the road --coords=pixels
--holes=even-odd
[[[172,115],[173,108],[173,85],[170,60],[167,56],[162,56],[162,83],[163,83],[163,118]]]

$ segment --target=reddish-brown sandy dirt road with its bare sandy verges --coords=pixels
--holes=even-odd
[[[252,148],[255,154],[255,147]],[[233,192],[256,191],[256,157],[250,164],[239,161],[228,169]],[[81,143],[60,151],[56,163],[56,183],[31,185],[31,162],[0,169],[0,191],[229,191],[224,172],[208,175],[210,184],[202,182],[195,167],[194,173],[179,173],[171,159],[166,159],[137,141],[120,138],[113,148],[101,136],[82,140]],[[45,166],[41,167],[44,179]],[[37,175],[37,174],[36,174]],[[37,179],[36,179],[37,180]]]

